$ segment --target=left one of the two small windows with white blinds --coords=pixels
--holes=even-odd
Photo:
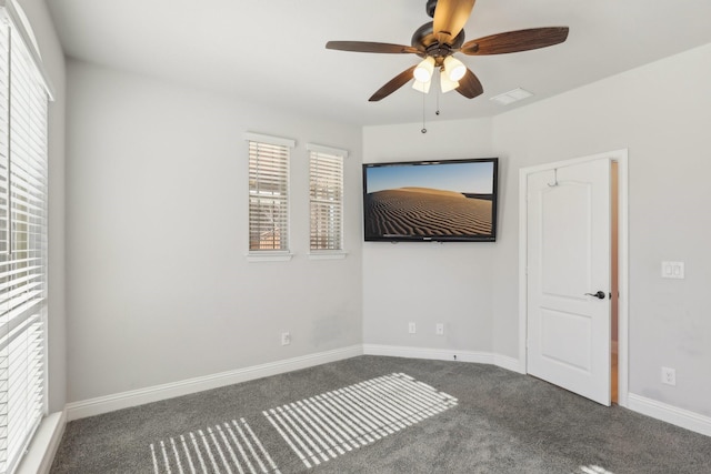
[[[293,140],[248,133],[249,251],[289,251],[289,153]]]

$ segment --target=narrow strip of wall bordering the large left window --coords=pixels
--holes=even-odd
[[[49,107],[49,280],[48,404],[61,411],[67,402],[64,307],[64,53],[43,0],[18,0],[34,32],[44,69],[54,89]]]

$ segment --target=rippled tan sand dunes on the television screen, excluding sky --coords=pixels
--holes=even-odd
[[[489,199],[453,191],[400,188],[369,193],[365,236],[463,236],[491,234]]]

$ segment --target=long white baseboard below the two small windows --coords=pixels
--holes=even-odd
[[[286,372],[308,369],[329,362],[341,361],[363,354],[362,345],[337,349],[284,361],[271,362],[251,367],[238,369],[219,374],[189,379],[180,382],[149,386],[140,390],[118,393],[116,395],[100,396],[81,402],[68,403],[66,407],[67,421],[86,418],[117,410],[159,402],[176,396],[189,395],[206,390],[247,382],[256,379],[278,375]]]

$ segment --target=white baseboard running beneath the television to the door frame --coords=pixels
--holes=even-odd
[[[520,372],[518,359],[489,352],[459,351],[450,349],[407,347],[397,345],[363,344],[363,354],[388,355],[392,357],[428,359],[432,361],[458,361],[475,364],[497,365]]]

